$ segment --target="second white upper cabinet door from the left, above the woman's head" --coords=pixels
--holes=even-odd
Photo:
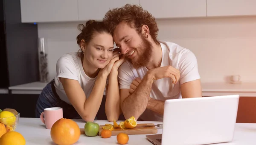
[[[139,4],[140,0],[78,0],[79,20],[102,20],[109,9],[125,4]]]

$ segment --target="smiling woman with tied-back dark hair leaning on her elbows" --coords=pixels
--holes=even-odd
[[[41,92],[36,117],[45,108],[61,107],[64,118],[93,121],[106,88],[105,113],[113,122],[121,114],[117,71],[124,58],[113,50],[113,37],[103,22],[90,20],[79,26],[76,39],[81,52],[58,59],[57,76]]]

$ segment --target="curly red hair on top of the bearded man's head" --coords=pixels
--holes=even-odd
[[[158,26],[155,18],[146,10],[143,10],[141,6],[126,4],[121,8],[113,8],[109,10],[103,18],[113,34],[117,25],[121,22],[125,22],[131,28],[135,28],[138,34],[141,34],[143,25],[147,25],[149,28],[149,34],[155,43],[158,43],[157,34]]]

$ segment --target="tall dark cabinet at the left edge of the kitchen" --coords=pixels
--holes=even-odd
[[[21,23],[20,0],[0,0],[0,89],[39,81],[38,27]]]

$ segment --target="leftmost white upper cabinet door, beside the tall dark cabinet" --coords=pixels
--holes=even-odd
[[[77,0],[20,0],[21,22],[77,21],[77,6]]]

